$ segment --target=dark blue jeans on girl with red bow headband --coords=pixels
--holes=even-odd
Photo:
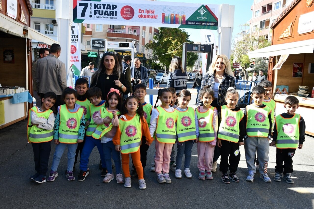
[[[115,145],[112,141],[103,143],[102,149],[105,154],[106,166],[107,171],[109,174],[112,174],[112,167],[111,167],[111,156],[113,161],[115,162],[116,167],[116,174],[121,174],[121,160],[120,160],[120,152],[117,152],[115,149]]]

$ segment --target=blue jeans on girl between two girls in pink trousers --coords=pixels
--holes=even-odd
[[[184,169],[190,168],[193,140],[182,142],[183,146],[177,144],[176,169],[181,169],[184,153]]]

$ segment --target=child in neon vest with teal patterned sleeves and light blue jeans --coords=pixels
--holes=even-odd
[[[56,180],[57,169],[65,147],[68,147],[68,181],[75,180],[73,176],[73,165],[75,160],[75,150],[78,143],[82,143],[85,134],[84,110],[76,104],[76,91],[67,87],[64,89],[62,99],[65,105],[58,106],[58,113],[55,120],[54,142],[57,145],[49,173],[48,181]]]

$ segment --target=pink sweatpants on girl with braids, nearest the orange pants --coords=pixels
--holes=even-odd
[[[155,148],[156,148],[156,155],[155,155],[155,172],[157,174],[169,173],[170,169],[170,154],[173,144],[168,143],[160,143],[155,140]]]

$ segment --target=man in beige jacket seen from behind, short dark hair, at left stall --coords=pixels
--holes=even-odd
[[[61,54],[59,44],[52,44],[50,54],[37,61],[36,88],[41,97],[48,91],[57,94],[54,113],[57,113],[57,107],[64,104],[61,94],[67,88],[67,73],[65,64],[58,60]]]

